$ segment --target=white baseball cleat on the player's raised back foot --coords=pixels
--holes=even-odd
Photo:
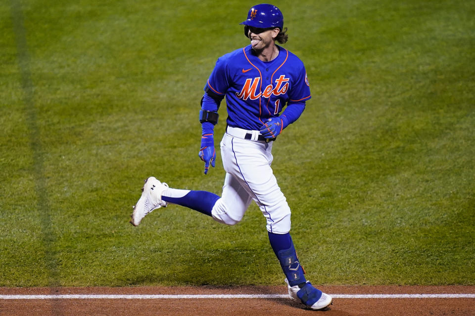
[[[146,179],[142,188],[142,196],[139,198],[137,204],[133,206],[134,212],[131,215],[132,220],[129,223],[134,226],[139,226],[145,215],[154,209],[166,207],[167,202],[162,200],[162,193],[167,189],[168,184],[158,181],[155,177]]]

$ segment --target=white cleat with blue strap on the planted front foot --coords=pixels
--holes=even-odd
[[[302,287],[290,286],[286,278],[285,283],[287,283],[290,298],[295,302],[305,304],[309,309],[322,310],[332,304],[332,297],[313,287],[310,281],[307,281]]]

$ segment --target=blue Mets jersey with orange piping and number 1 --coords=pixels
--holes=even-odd
[[[226,97],[229,126],[257,130],[285,105],[311,98],[303,62],[276,46],[279,55],[269,62],[255,56],[251,45],[218,58],[204,89]]]

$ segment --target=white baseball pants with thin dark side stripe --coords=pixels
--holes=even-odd
[[[290,208],[271,168],[273,142],[246,140],[246,133],[257,139],[256,131],[228,127],[221,141],[226,178],[212,217],[220,223],[235,225],[254,200],[266,218],[269,232],[288,233]]]

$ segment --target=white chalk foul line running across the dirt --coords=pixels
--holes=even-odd
[[[330,294],[333,298],[475,298],[475,294]],[[236,298],[289,298],[287,294],[54,294],[54,295],[0,295],[0,300],[52,299],[236,299]]]

